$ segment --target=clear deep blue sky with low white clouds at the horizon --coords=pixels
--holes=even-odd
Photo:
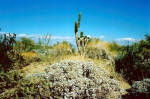
[[[79,31],[106,41],[139,40],[150,33],[150,0],[0,0],[1,32],[37,38],[74,39]]]

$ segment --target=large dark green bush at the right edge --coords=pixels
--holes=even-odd
[[[150,77],[150,49],[147,40],[123,47],[115,60],[116,71],[132,83]]]

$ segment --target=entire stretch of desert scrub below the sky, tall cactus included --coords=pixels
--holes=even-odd
[[[80,21],[81,14],[75,22],[77,48],[67,41],[52,45],[49,34],[38,42],[0,34],[0,99],[147,99],[150,35],[119,45],[78,36]]]

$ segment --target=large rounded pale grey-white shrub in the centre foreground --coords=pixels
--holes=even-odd
[[[46,68],[48,98],[118,99],[123,90],[103,68],[90,62],[63,61]],[[41,85],[42,87],[43,85]]]

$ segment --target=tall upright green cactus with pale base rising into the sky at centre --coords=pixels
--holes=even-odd
[[[78,37],[80,21],[81,21],[81,13],[79,13],[79,15],[78,15],[78,22],[77,21],[75,22],[75,39],[76,39],[76,45],[78,48],[78,52],[80,53],[80,55],[84,56],[85,52],[86,52],[86,46],[89,41],[89,37],[84,36],[83,32],[81,32],[80,37]]]

